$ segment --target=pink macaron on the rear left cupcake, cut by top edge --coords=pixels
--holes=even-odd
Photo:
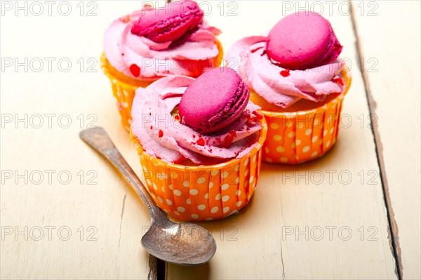
[[[152,9],[135,22],[131,32],[156,43],[175,41],[203,20],[203,11],[194,1],[180,0],[165,8]]]

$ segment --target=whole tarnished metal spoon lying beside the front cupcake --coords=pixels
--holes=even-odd
[[[151,227],[142,237],[146,251],[176,265],[201,265],[213,257],[216,243],[212,234],[199,225],[168,220],[103,128],[86,129],[79,136],[111,161],[145,202],[151,214]]]

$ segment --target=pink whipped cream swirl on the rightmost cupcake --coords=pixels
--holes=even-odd
[[[321,102],[326,96],[341,93],[340,72],[344,62],[305,70],[289,70],[276,65],[266,53],[266,36],[250,36],[237,41],[228,51],[227,67],[236,68],[267,102],[287,108],[301,99]]]

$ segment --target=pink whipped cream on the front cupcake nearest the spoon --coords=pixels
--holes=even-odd
[[[248,102],[243,114],[220,131],[201,135],[171,115],[194,78],[168,76],[147,88],[138,88],[132,109],[132,133],[152,156],[168,163],[189,159],[195,164],[215,164],[241,158],[250,152],[260,137],[257,105]]]

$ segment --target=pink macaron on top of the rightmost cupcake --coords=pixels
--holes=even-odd
[[[312,11],[293,13],[280,20],[267,36],[267,55],[286,69],[326,65],[340,55],[342,46],[332,26]]]

